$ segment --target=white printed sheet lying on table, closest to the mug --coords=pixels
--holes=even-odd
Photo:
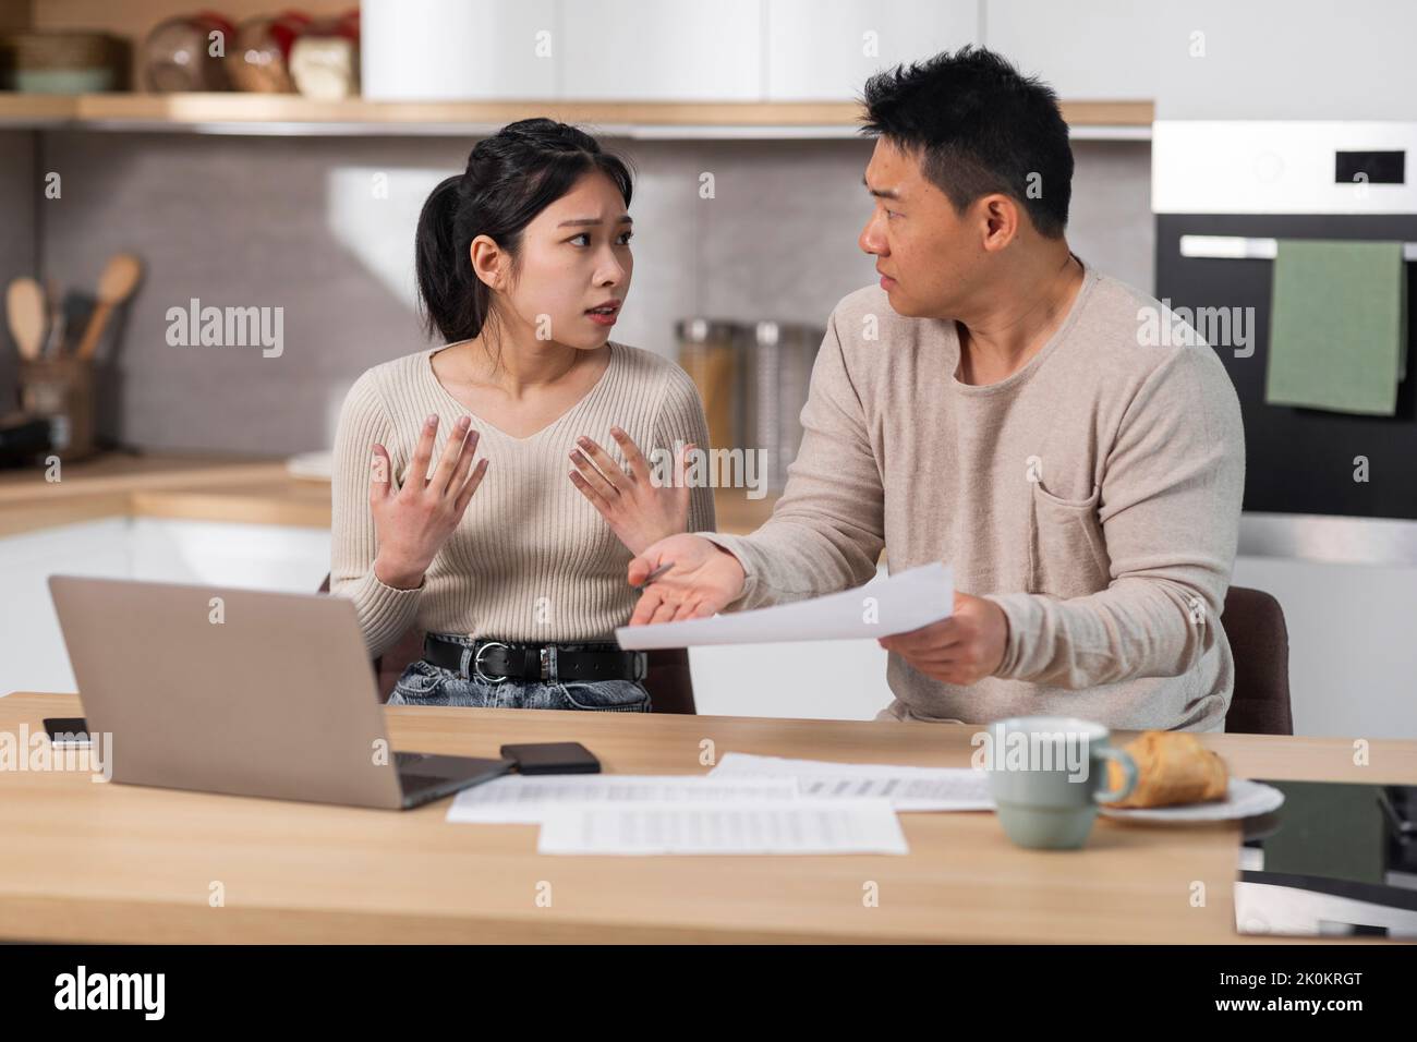
[[[897,811],[992,811],[989,780],[973,767],[907,767],[724,753],[710,778],[794,778],[803,798],[888,800]]]

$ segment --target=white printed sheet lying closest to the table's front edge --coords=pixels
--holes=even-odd
[[[888,800],[558,805],[541,853],[910,853]]]

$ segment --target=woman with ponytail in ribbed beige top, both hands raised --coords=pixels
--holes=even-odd
[[[684,482],[707,444],[693,381],[609,340],[629,201],[594,138],[527,119],[424,204],[418,291],[446,346],[364,373],[334,445],[330,590],[371,655],[428,634],[390,703],[649,710],[645,654],[614,642],[626,567],[714,515]]]

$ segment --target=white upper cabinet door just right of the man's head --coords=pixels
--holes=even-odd
[[[1152,0],[985,0],[983,43],[1066,101],[1156,96]]]

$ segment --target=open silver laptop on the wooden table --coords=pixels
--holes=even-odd
[[[113,781],[397,809],[513,766],[395,753],[341,597],[77,576],[50,595]]]

